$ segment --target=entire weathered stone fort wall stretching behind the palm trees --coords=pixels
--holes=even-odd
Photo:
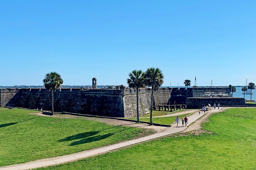
[[[139,89],[141,116],[149,113],[150,97],[151,88]],[[198,108],[209,102],[213,105],[217,99],[221,105],[245,105],[243,98],[232,97],[230,87],[160,88],[154,93],[154,105],[173,104],[175,101],[176,104],[187,104],[187,108]],[[51,92],[44,88],[0,89],[0,106],[51,110]],[[108,117],[136,117],[136,89],[63,88],[54,92],[54,110]]]

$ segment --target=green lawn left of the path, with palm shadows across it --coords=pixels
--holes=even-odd
[[[0,167],[76,153],[153,133],[72,118],[35,116],[33,110],[0,108]]]

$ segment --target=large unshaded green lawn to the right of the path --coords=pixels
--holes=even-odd
[[[209,120],[202,126],[211,133],[161,138],[42,170],[255,170],[256,109],[229,109]]]

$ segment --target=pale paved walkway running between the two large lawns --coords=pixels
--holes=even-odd
[[[221,110],[221,108],[220,108]],[[208,112],[218,112],[220,110],[210,110]],[[191,113],[191,111],[190,111]],[[206,112],[207,113],[207,112]],[[194,113],[193,115],[188,117],[188,125],[196,121],[198,118],[202,117],[204,114],[199,114],[198,112]],[[163,136],[171,135],[174,133],[178,133],[181,131],[184,131],[187,127],[182,127],[182,124],[180,123],[178,127],[168,127],[165,129],[163,132],[159,132],[153,135],[145,136],[143,138],[139,139],[134,139],[134,140],[129,140],[126,142],[121,142],[117,143],[114,145],[110,146],[105,146],[105,147],[100,147],[100,148],[95,148],[91,150],[85,150],[79,153],[75,154],[70,154],[70,155],[64,155],[64,156],[58,156],[58,157],[53,157],[53,158],[45,158],[41,160],[36,160],[36,161],[31,161],[23,164],[16,164],[16,165],[9,165],[7,167],[1,167],[0,170],[23,170],[23,169],[35,169],[35,168],[40,168],[40,167],[47,167],[50,165],[57,165],[61,163],[66,163],[66,162],[72,162],[72,161],[77,161],[82,158],[86,157],[91,157],[99,154],[103,154],[109,151],[113,151],[116,149],[120,149],[123,147],[128,147],[131,145],[135,145],[144,141],[160,138]]]

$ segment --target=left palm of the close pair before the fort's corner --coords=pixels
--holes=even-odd
[[[137,123],[139,119],[139,88],[145,87],[144,85],[144,73],[141,70],[133,70],[129,73],[127,84],[130,88],[136,88],[136,100],[137,100]]]

